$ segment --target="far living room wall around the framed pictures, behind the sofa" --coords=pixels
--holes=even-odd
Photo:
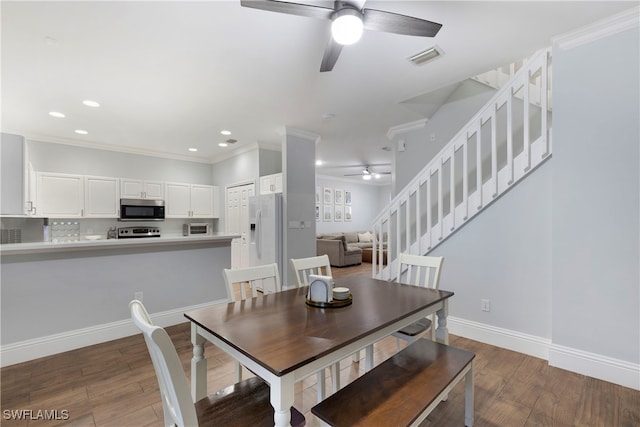
[[[352,197],[352,221],[324,221],[322,211],[324,204],[320,198],[320,221],[316,222],[317,233],[334,233],[339,231],[364,231],[371,230],[373,219],[378,215],[382,207],[389,202],[385,200],[383,194],[387,194],[390,186],[356,184],[350,180],[340,180],[328,176],[316,176],[316,186],[339,188],[344,191],[351,191]],[[386,193],[385,193],[386,191]],[[335,206],[335,205],[332,205]]]

